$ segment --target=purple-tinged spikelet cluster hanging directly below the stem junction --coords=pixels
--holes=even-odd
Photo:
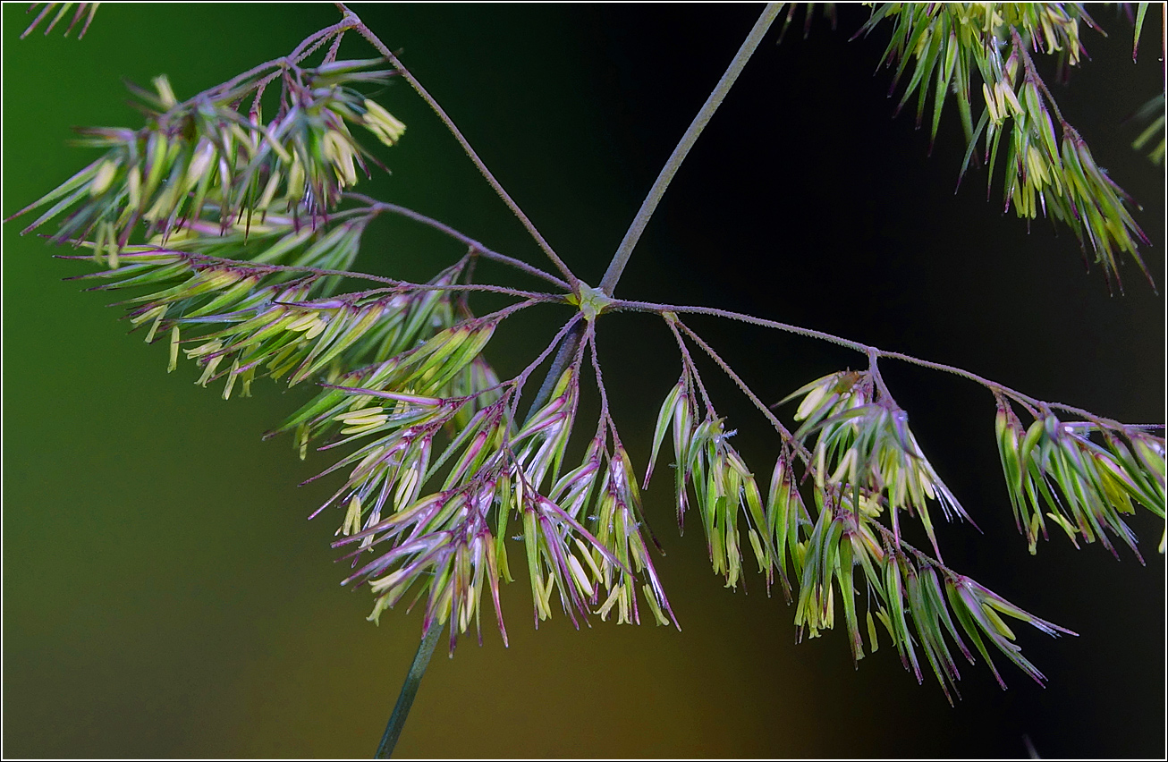
[[[305,443],[339,430],[321,449],[362,442],[326,471],[352,467],[321,506],[346,506],[339,547],[359,543],[354,557],[375,555],[347,582],[368,583],[376,594],[374,621],[406,595],[425,598],[425,626],[449,623],[451,649],[472,622],[478,628],[481,596],[489,589],[506,640],[499,582],[512,580],[506,541],[517,521],[514,539],[523,542],[536,624],[551,616],[554,593],[577,626],[578,617],[592,611],[602,619],[616,611],[619,622],[639,622],[638,587],[654,619],[669,623],[669,603],[641,535],[632,462],[606,406],[579,465],[564,466],[583,354],[585,346],[595,353],[595,334],[588,331],[550,400],[520,422],[523,385],[555,341],[507,382],[489,383],[493,375],[480,370],[475,390],[445,390],[447,380],[479,358],[492,320],[457,326],[401,358],[326,385],[277,430],[301,431],[298,439]],[[595,358],[593,367],[603,389]],[[431,459],[443,434],[445,445]],[[383,542],[385,552],[377,547]]]

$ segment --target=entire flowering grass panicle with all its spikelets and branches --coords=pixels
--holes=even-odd
[[[26,35],[55,11],[48,34],[72,5],[47,4]],[[97,4],[77,5],[69,29],[85,18],[81,35]],[[834,26],[832,4],[826,5]],[[590,617],[611,617],[680,629],[655,567],[660,546],[641,499],[654,472],[672,460],[679,529],[696,513],[712,570],[725,587],[745,586],[753,567],[767,591],[777,583],[793,607],[799,637],[834,629],[842,614],[857,663],[885,640],[918,681],[927,663],[951,701],[961,659],[980,657],[1004,687],[994,651],[1043,681],[1006,619],[1048,635],[1070,631],[944,564],[934,510],[950,520],[972,519],[925,456],[877,361],[957,374],[993,393],[1009,505],[1031,553],[1054,524],[1076,546],[1080,539],[1099,541],[1115,553],[1111,538],[1119,538],[1139,557],[1122,517],[1138,505],[1164,517],[1166,446],[1152,432],[1155,427],[1044,402],[960,368],[811,328],[613,298],[639,231],[684,151],[670,159],[600,288],[588,286],[534,230],[420,83],[352,11],[341,11],[340,23],[288,56],[188,101],[175,97],[165,76],[152,90],[132,88],[145,125],[81,130],[83,145],[105,153],[14,216],[37,212],[26,233],[56,222],[50,242],[88,249],[65,257],[99,268],[77,278],[96,282],[91,290],[128,292],[119,303],[126,318],[145,331],[147,342],[168,341],[169,370],[183,356],[194,361],[197,383],[222,381],[224,400],[236,392],[250,395],[262,377],[319,386],[266,436],[290,435],[301,458],[310,449],[332,458],[314,479],[335,476],[341,484],[313,515],[338,514],[334,546],[352,563],[345,584],[373,594],[370,621],[403,602],[406,609],[420,604],[427,643],[446,628],[453,652],[472,629],[481,643],[489,593],[507,643],[500,590],[514,581],[513,555],[521,554],[536,626],[558,603],[577,628]],[[780,11],[781,5],[767,7],[729,72],[745,65]],[[793,14],[794,6],[787,23]],[[1141,6],[1138,26],[1143,14]],[[805,29],[812,16],[808,7]],[[1090,244],[1108,282],[1119,284],[1121,255],[1148,275],[1138,251],[1147,238],[1132,217],[1131,200],[1063,118],[1031,60],[1033,51],[1042,51],[1061,69],[1078,65],[1080,25],[1094,27],[1077,4],[881,4],[858,34],[890,27],[884,60],[896,67],[894,90],[908,77],[897,108],[916,97],[918,126],[929,117],[931,138],[946,99],[955,97],[969,146],[962,174],[983,157],[992,186],[1001,167],[1007,209],[1013,206],[1027,220],[1041,210],[1070,227]],[[336,60],[348,30],[383,57]],[[308,65],[306,58],[326,42],[333,44],[324,60]],[[382,166],[354,127],[383,147],[404,134],[405,126],[363,93],[396,77],[434,108],[562,278],[420,213],[353,193],[361,174]],[[732,81],[728,74],[718,84],[679,150],[688,151]],[[276,83],[278,105],[264,119],[263,96]],[[1159,120],[1136,140],[1139,147],[1162,132],[1162,106],[1161,95],[1145,115],[1159,110]],[[1162,160],[1162,139],[1152,153]],[[364,231],[380,214],[437,229],[467,254],[425,283],[355,271]],[[557,290],[478,283],[480,257]],[[474,292],[508,302],[475,314]],[[523,370],[500,380],[487,358],[492,339],[507,318],[543,304],[568,305],[572,316]],[[635,452],[611,415],[597,353],[598,325],[626,311],[659,314],[681,359],[640,478]],[[781,403],[767,407],[680,313],[829,341],[863,353],[868,366],[797,389],[783,401],[797,402],[785,423],[772,411]],[[734,446],[735,430],[718,415],[693,346],[778,435],[765,489]],[[528,381],[551,356],[542,389],[527,399]],[[593,393],[596,421],[580,420],[582,395]],[[527,417],[517,414],[521,402],[531,408]],[[1028,427],[1017,408],[1030,416]],[[902,513],[920,521],[927,553],[905,541]],[[994,515],[994,506],[980,506],[979,518]]]

